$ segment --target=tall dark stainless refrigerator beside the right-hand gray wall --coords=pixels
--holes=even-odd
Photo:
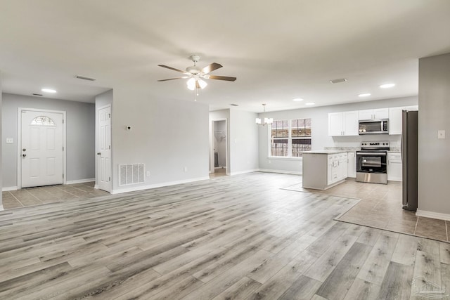
[[[401,117],[403,208],[416,211],[418,194],[418,111],[404,110]]]

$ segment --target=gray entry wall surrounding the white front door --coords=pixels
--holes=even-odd
[[[1,109],[2,157],[4,175],[3,187],[17,186],[17,122],[18,107],[66,112],[67,137],[67,181],[95,177],[95,107],[92,103],[81,103],[32,96],[3,94]],[[14,138],[13,144],[6,144],[6,138]]]

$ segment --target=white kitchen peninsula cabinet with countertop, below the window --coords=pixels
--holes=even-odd
[[[303,154],[303,188],[326,190],[347,178],[347,151],[316,150]]]

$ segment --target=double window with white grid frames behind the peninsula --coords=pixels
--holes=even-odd
[[[311,150],[311,119],[274,121],[271,124],[271,156],[302,157]]]

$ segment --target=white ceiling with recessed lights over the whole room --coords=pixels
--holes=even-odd
[[[449,0],[1,0],[3,91],[93,102],[108,89],[193,101],[186,79],[220,63],[198,101],[253,112],[418,94],[418,58],[450,52]],[[97,81],[75,79],[75,75]],[[330,79],[348,81],[330,84]],[[392,89],[378,86],[393,82]],[[293,98],[304,98],[294,103]]]

